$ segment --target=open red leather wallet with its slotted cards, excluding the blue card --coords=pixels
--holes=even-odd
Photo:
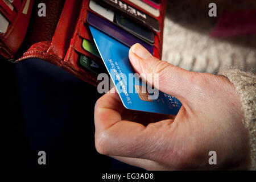
[[[97,86],[97,76],[106,68],[89,25],[122,44],[141,43],[159,59],[162,55],[166,0],[159,4],[158,17],[128,0],[43,0],[47,16],[39,17],[36,9],[40,2],[0,0],[0,53],[7,60],[43,59]]]

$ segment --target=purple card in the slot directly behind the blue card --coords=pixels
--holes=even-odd
[[[100,16],[88,12],[87,22],[91,26],[96,27],[99,30],[105,32],[106,34],[112,36],[113,38],[119,40],[126,46],[131,47],[133,46],[133,44],[139,43],[142,46],[144,46],[150,53],[154,52],[154,46],[151,46],[150,44],[143,42],[143,40],[138,39],[136,36],[130,34],[122,28],[115,26],[115,24],[100,18]]]

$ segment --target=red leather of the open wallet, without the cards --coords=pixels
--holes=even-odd
[[[122,2],[148,14],[130,1]],[[46,4],[45,17],[38,16],[39,3]],[[89,8],[88,0],[14,0],[13,6],[11,14],[6,13],[0,6],[1,13],[10,23],[4,34],[0,32],[0,53],[3,57],[13,62],[40,58],[94,86],[98,84],[97,74],[81,67],[79,63],[79,56],[85,55],[105,67],[99,57],[82,48],[83,38],[92,40],[86,24],[88,11],[93,12]],[[26,6],[27,13],[24,14]],[[165,7],[166,0],[163,0],[160,16],[153,17],[160,24],[160,31],[155,32],[154,44],[154,56],[158,58],[162,56]]]

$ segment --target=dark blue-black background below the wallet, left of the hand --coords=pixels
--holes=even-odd
[[[141,170],[97,153],[97,88],[40,59],[0,64],[1,164],[6,169]],[[46,151],[46,165],[38,164],[41,150]]]

